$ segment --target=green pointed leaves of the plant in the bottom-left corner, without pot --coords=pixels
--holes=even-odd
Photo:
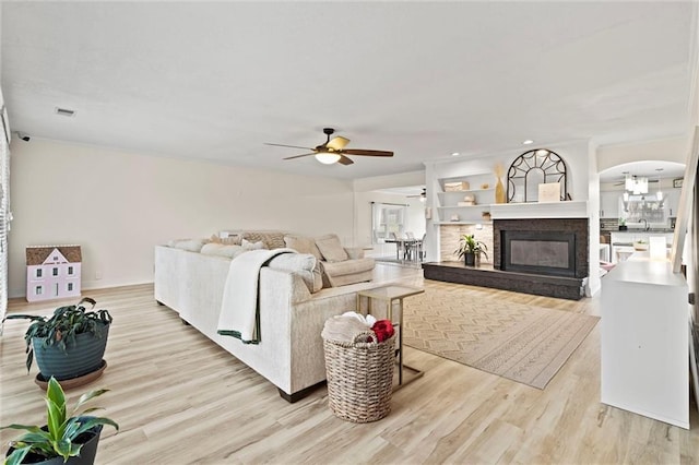
[[[14,451],[5,458],[5,465],[21,464],[29,453],[44,457],[44,460],[63,457],[63,462],[66,462],[68,457],[80,455],[83,446],[79,439],[81,434],[88,433],[93,428],[100,425],[110,425],[118,431],[119,425],[109,418],[84,416],[84,414],[102,409],[100,407],[86,408],[79,414],[79,409],[83,404],[108,391],[100,389],[83,394],[70,416],[68,416],[63,390],[58,381],[51,377],[46,390],[47,422],[44,428],[26,425],[9,425],[0,428],[28,431],[15,441],[10,442]]]

